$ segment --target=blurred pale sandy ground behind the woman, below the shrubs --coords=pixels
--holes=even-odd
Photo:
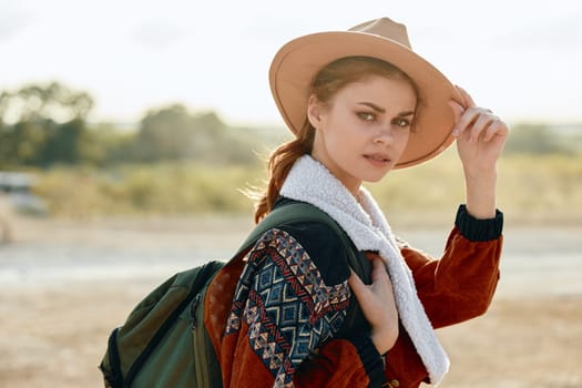
[[[110,330],[154,285],[185,265],[181,253],[229,252],[249,224],[203,218],[20,221],[17,226],[14,242],[0,246],[0,387],[40,388],[101,387],[96,366]],[[227,237],[219,234],[225,229]],[[410,231],[407,239],[436,249],[446,232]],[[439,330],[452,364],[441,387],[582,387],[580,232],[506,232],[511,259],[490,310]],[[557,248],[570,254],[558,272],[552,269],[561,262],[550,259],[548,266]],[[103,253],[109,272],[95,265],[101,263],[91,256],[95,252]],[[154,266],[161,253],[171,256],[166,267]],[[134,266],[122,267],[119,257]],[[539,265],[525,276],[527,261]],[[152,270],[133,272],[143,267]]]

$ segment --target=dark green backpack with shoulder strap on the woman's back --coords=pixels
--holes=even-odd
[[[368,279],[369,264],[345,232],[317,207],[289,202],[276,207],[255,226],[231,261],[242,256],[268,229],[286,223],[318,222],[331,227],[348,252],[349,264]],[[214,276],[226,265],[210,262],[178,273],[161,284],[115,328],[100,365],[105,387],[219,388],[221,367],[204,327],[204,296]],[[353,298],[344,328],[361,324],[363,315]]]

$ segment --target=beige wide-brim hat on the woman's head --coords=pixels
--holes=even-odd
[[[337,59],[355,55],[392,63],[416,82],[420,93],[415,129],[397,169],[432,159],[453,142],[455,118],[448,101],[461,102],[459,92],[440,71],[412,51],[406,27],[388,18],[348,31],[304,35],[280,48],[270,64],[269,83],[277,108],[293,133],[297,134],[307,120],[310,88],[319,70]]]

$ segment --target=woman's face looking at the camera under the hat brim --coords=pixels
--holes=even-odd
[[[312,156],[351,193],[381,180],[406,149],[417,98],[404,80],[370,75],[347,84],[326,104],[312,95]]]

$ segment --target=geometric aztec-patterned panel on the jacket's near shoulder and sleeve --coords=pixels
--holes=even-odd
[[[349,303],[346,282],[327,286],[303,246],[273,228],[247,254],[226,335],[248,327],[252,349],[275,378],[292,387],[299,364],[339,330]]]

